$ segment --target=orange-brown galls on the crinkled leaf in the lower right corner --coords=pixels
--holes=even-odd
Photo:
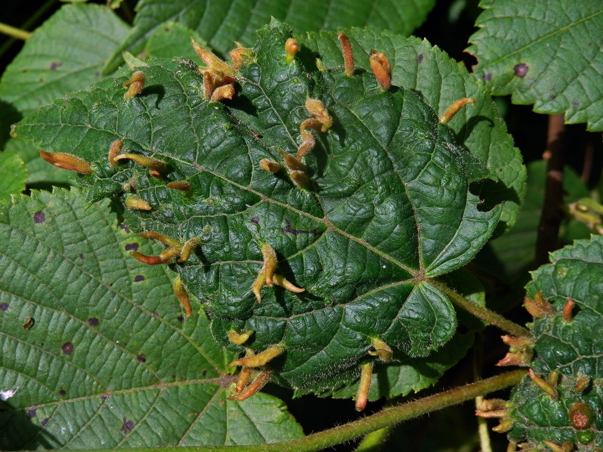
[[[575,303],[566,298],[563,311],[564,322],[572,322],[572,308]],[[525,297],[524,306],[526,310],[534,317],[534,319],[545,319],[552,318],[557,315],[557,310],[552,304],[548,303],[542,297],[542,291],[536,293],[534,298]],[[595,436],[598,431],[593,425],[595,422],[595,413],[587,404],[581,401],[566,400],[569,399],[567,395],[564,396],[565,392],[570,394],[578,395],[585,391],[591,383],[591,379],[587,375],[574,375],[570,377],[568,375],[561,374],[558,370],[554,369],[549,372],[546,378],[537,375],[532,369],[532,357],[534,356],[534,339],[531,337],[512,337],[512,336],[501,336],[505,344],[509,346],[509,352],[501,359],[497,366],[522,366],[528,368],[528,377],[532,380],[535,388],[541,391],[542,397],[547,397],[554,403],[559,404],[560,407],[567,407],[567,422],[563,422],[566,427],[572,427],[575,432],[575,438],[577,443],[571,441],[565,441],[563,444],[557,444],[557,442],[550,441],[550,439],[541,439],[540,443],[535,441],[529,441],[524,436],[523,442],[517,442],[510,439],[507,452],[539,452],[545,448],[548,448],[552,452],[572,452],[573,450],[592,450],[593,452],[603,452],[603,450],[595,444]],[[560,391],[560,384],[563,383],[563,391]],[[563,394],[561,394],[563,392]],[[561,394],[561,395],[560,395]],[[516,403],[519,401],[507,401],[502,399],[490,399],[484,400],[481,406],[476,410],[475,414],[482,418],[498,418],[500,423],[492,428],[497,433],[507,433],[516,426],[518,422],[521,422],[519,413],[516,413]],[[541,409],[544,409],[541,407]],[[599,409],[599,413],[601,409]],[[550,416],[552,413],[547,413]],[[555,419],[554,422],[560,422],[559,419]],[[551,425],[552,426],[552,425]],[[559,427],[560,425],[557,425]],[[529,426],[525,426],[529,428]]]

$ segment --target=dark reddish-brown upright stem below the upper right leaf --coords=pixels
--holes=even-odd
[[[563,218],[563,115],[549,115],[549,130],[546,137],[546,190],[545,201],[540,213],[534,267],[549,262],[549,253],[557,250],[559,225]]]

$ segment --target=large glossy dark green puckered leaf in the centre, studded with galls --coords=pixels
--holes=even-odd
[[[376,338],[402,357],[449,341],[455,312],[433,278],[475,256],[501,208],[482,206],[479,196],[495,172],[419,96],[384,92],[363,71],[309,75],[297,60],[286,63],[289,36],[276,20],[259,31],[254,56],[233,73],[231,101],[204,99],[196,64],[151,59],[139,96],[124,101],[131,72],[122,71],[42,107],[16,131],[45,151],[90,162],[80,178],[90,199],[147,202],[151,210],[127,212],[134,230],[199,239],[173,268],[209,309],[218,342],[241,352],[284,347],[271,368],[288,385],[312,388],[356,377],[359,364],[375,359],[368,351]],[[260,160],[284,168],[279,150],[294,159],[308,98],[320,99],[333,124],[315,133],[318,144],[303,159],[309,183],[300,188]],[[117,139],[122,152],[164,162],[160,177],[134,162],[110,165]],[[166,187],[182,180],[188,193]],[[264,287],[258,303],[251,288],[265,244],[276,252],[277,274],[305,292]],[[231,330],[254,334],[244,348],[230,344]]]

